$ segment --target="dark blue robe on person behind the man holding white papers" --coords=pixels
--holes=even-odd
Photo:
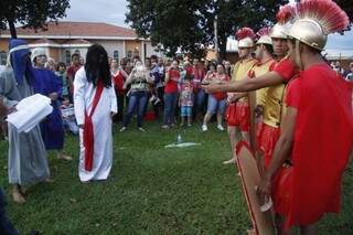
[[[44,96],[57,93],[61,98],[63,82],[52,71],[33,68],[33,76],[34,93]],[[64,147],[64,127],[58,100],[52,102],[52,106],[53,113],[41,122],[41,132],[46,150],[63,149]]]

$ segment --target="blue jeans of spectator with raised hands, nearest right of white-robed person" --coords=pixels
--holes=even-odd
[[[128,111],[124,118],[124,127],[127,127],[137,110],[137,126],[142,127],[142,119],[145,115],[145,107],[147,104],[147,92],[132,92],[129,97]]]

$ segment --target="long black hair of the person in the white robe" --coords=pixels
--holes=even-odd
[[[93,83],[94,86],[97,86],[98,81],[107,88],[111,86],[108,54],[101,45],[95,43],[88,47],[85,72],[88,83]]]

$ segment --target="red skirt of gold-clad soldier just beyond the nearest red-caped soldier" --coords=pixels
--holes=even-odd
[[[268,126],[266,124],[261,125],[261,128],[258,132],[258,148],[264,152],[265,168],[268,167],[276,142],[279,139],[280,129],[276,127]]]

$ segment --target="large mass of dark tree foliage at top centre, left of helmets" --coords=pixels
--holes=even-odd
[[[128,0],[127,23],[139,36],[161,43],[169,55],[178,49],[195,54],[214,42],[217,15],[220,55],[224,57],[227,38],[240,26],[271,24],[276,11],[287,0]]]

